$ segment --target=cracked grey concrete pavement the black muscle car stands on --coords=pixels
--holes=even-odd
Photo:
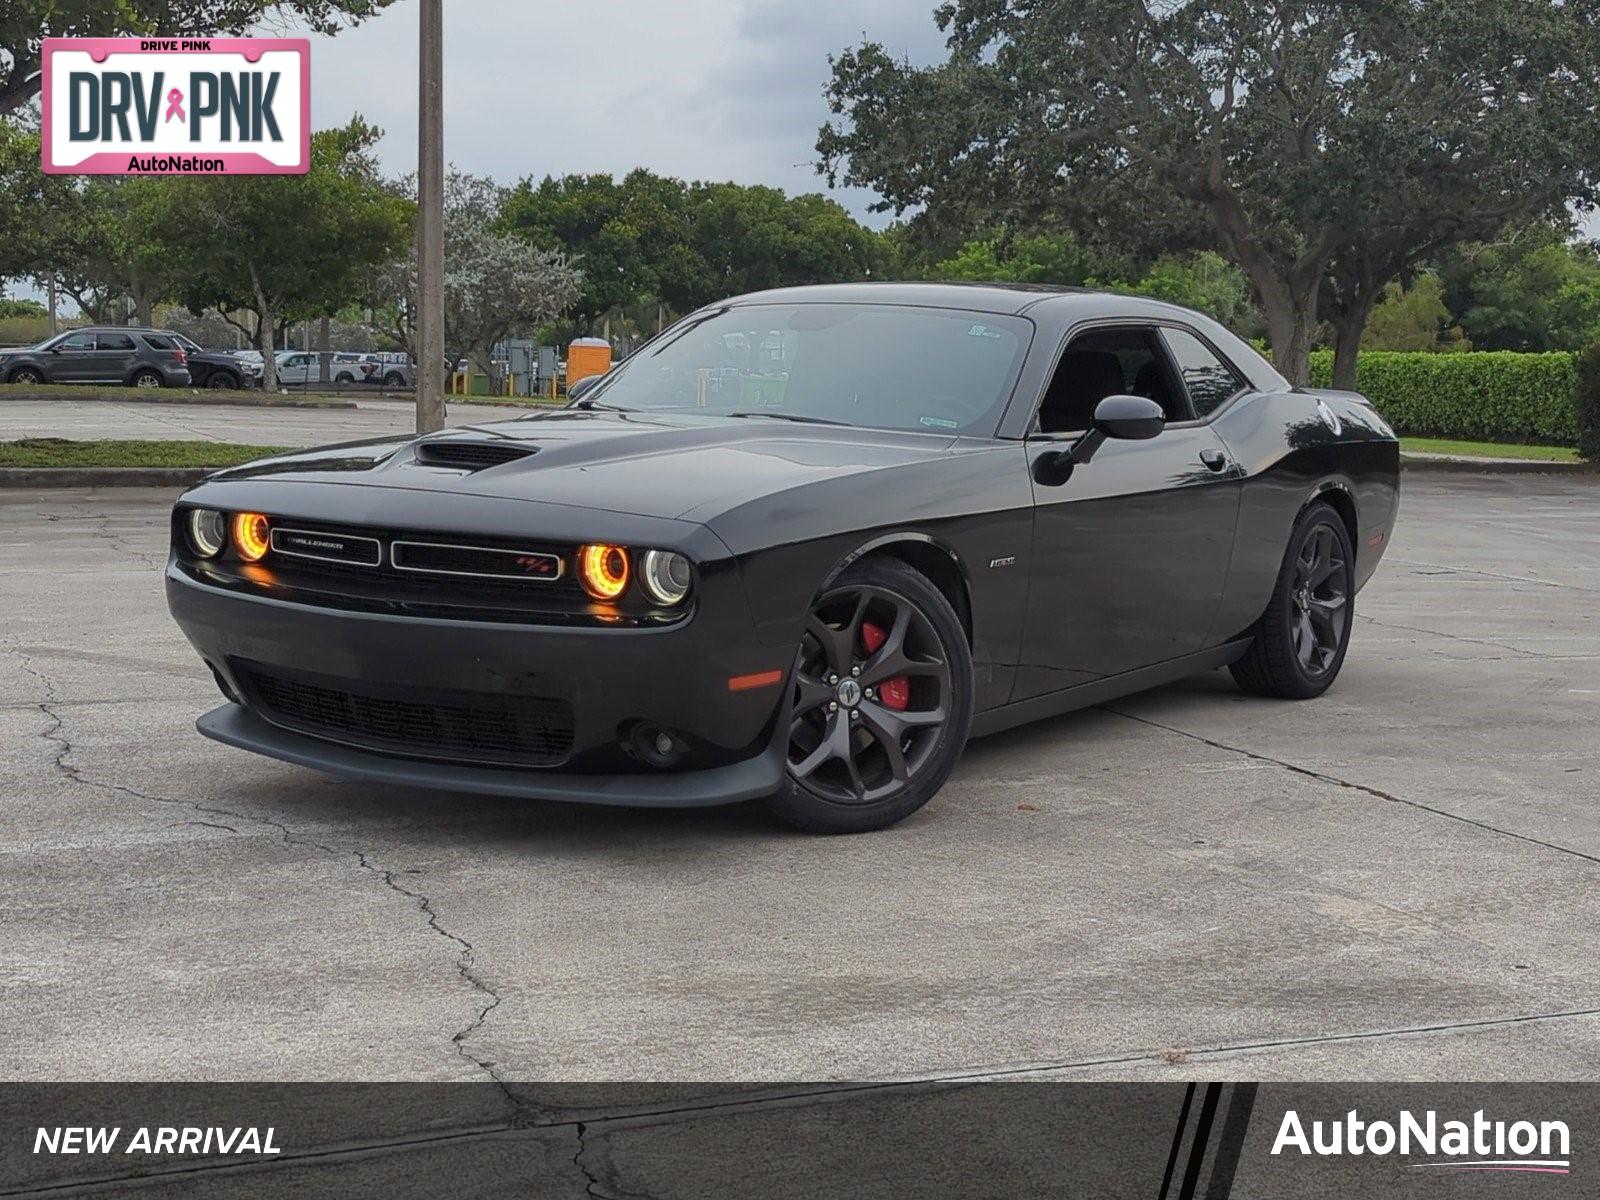
[[[219,747],[168,501],[0,493],[0,1075],[1600,1072],[1600,486],[1414,475],[1323,699],[1016,730],[853,838]]]

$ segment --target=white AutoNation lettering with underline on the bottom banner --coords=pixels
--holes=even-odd
[[[1566,1174],[1571,1170],[1571,1133],[1566,1122],[1490,1120],[1478,1109],[1472,1120],[1440,1120],[1429,1109],[1421,1117],[1402,1109],[1395,1120],[1362,1120],[1355,1109],[1342,1118],[1310,1122],[1307,1133],[1299,1112],[1290,1109],[1278,1125],[1272,1154],[1299,1150],[1318,1158],[1370,1154],[1426,1155],[1437,1162],[1406,1166],[1454,1171],[1526,1171]]]

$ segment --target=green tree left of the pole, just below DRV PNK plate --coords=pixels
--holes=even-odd
[[[278,325],[357,299],[371,272],[408,245],[413,206],[379,181],[371,158],[378,136],[355,117],[312,134],[306,174],[160,181],[150,234],[176,293],[190,312],[254,314],[269,390],[277,387]]]

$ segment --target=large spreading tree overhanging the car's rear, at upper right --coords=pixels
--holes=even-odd
[[[1050,213],[1134,253],[1211,248],[1302,382],[1330,270],[1349,323],[1392,278],[1379,232],[1442,237],[1592,203],[1600,0],[949,0],[949,59],[837,56],[830,182],[942,219]],[[1091,238],[1093,240],[1093,238]],[[1430,253],[1437,253],[1432,246]]]

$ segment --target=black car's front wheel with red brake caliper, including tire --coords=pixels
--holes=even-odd
[[[768,810],[813,834],[883,829],[950,778],[973,722],[973,656],[944,594],[896,558],[822,589],[790,678],[789,770]]]

